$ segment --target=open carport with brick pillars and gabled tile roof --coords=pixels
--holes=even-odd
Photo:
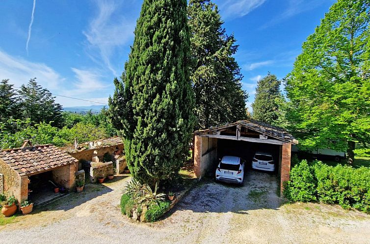
[[[282,128],[245,120],[198,130],[193,136],[194,170],[198,179],[213,173],[218,159],[224,155],[238,156],[250,163],[256,151],[268,151],[277,163],[281,191],[283,182],[289,180],[291,145],[298,141]]]

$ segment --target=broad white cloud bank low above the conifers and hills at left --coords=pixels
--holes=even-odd
[[[110,85],[104,85],[99,71],[76,68],[72,68],[72,71],[75,73],[75,77],[66,78],[46,64],[33,63],[0,50],[0,80],[9,79],[10,84],[20,87],[26,84],[30,78],[36,77],[37,83],[53,94],[107,103],[106,97],[94,98],[95,95],[104,96],[106,88],[110,87]],[[63,106],[97,104],[58,96],[55,101]]]

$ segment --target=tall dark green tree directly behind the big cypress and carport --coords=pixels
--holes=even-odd
[[[248,95],[233,57],[238,50],[234,35],[226,34],[217,5],[210,0],[190,0],[188,18],[196,127],[245,119]]]

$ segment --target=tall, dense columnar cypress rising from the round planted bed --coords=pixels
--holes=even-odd
[[[133,177],[155,184],[178,173],[195,117],[186,0],[144,0],[125,65],[123,133]]]

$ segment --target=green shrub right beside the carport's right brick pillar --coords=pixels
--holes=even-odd
[[[285,185],[284,195],[291,201],[316,201],[316,182],[311,167],[303,160],[291,170],[291,180]]]

